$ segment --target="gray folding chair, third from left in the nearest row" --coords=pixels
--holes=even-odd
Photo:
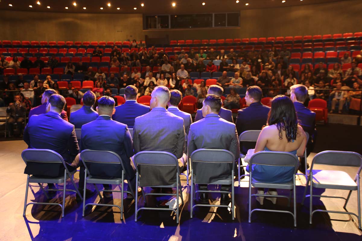
[[[165,151],[141,151],[138,152],[134,156],[134,163],[136,167],[136,190],[140,186],[142,189],[142,195],[144,198],[144,203],[146,204],[146,196],[147,195],[168,195],[168,196],[176,196],[176,211],[173,208],[157,208],[157,207],[141,207],[138,208],[138,193],[136,192],[136,201],[135,201],[135,221],[137,221],[137,215],[140,210],[161,210],[161,211],[172,211],[176,213],[176,223],[178,223],[179,217],[179,202],[178,197],[181,197],[182,205],[184,205],[184,198],[182,197],[182,190],[181,190],[181,181],[180,181],[180,168],[178,167],[178,160],[176,156],[169,152]],[[143,187],[141,186],[140,182],[142,177],[145,177],[148,173],[143,172],[140,175],[139,168],[142,169],[142,165],[153,165],[153,166],[173,166],[175,168],[175,175],[176,181],[169,185],[160,185],[160,186],[152,186],[154,188],[176,188],[176,193],[144,193]]]

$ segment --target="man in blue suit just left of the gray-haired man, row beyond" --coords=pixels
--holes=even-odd
[[[150,112],[150,107],[143,104],[139,104],[136,101],[138,89],[129,85],[125,89],[125,103],[121,106],[115,107],[115,113],[112,119],[123,124],[126,124],[128,128],[133,128],[135,119],[138,116],[142,116]]]

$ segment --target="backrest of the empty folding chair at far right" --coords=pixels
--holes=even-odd
[[[311,169],[314,164],[359,167],[357,172],[359,174],[362,167],[362,156],[352,151],[322,151],[314,156]]]

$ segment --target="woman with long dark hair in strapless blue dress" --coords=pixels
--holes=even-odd
[[[294,104],[285,95],[277,95],[271,102],[267,125],[262,129],[255,153],[259,151],[284,151],[296,156],[302,156],[306,146],[306,134],[298,125]],[[247,171],[249,170],[249,166]],[[253,178],[262,182],[289,182],[294,172],[293,167],[276,167],[253,165]],[[264,188],[258,189],[258,194],[264,194]],[[278,195],[276,189],[269,189],[266,194]],[[256,197],[262,205],[264,197]],[[266,198],[275,204],[277,198]]]

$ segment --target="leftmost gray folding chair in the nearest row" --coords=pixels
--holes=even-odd
[[[58,205],[62,208],[62,218],[64,217],[64,205],[65,205],[65,199],[66,199],[66,191],[73,191],[77,193],[80,198],[82,199],[82,196],[79,193],[79,190],[77,186],[75,185],[75,182],[73,180],[73,175],[76,172],[76,170],[69,172],[67,164],[64,162],[62,156],[60,156],[58,153],[52,150],[46,150],[46,149],[25,149],[21,153],[21,157],[24,160],[25,164],[28,164],[28,162],[36,162],[36,163],[60,163],[63,164],[64,167],[64,175],[61,175],[59,177],[38,177],[38,176],[30,176],[28,175],[28,178],[26,179],[26,192],[25,192],[25,202],[24,202],[24,212],[23,216],[25,216],[25,210],[26,207],[30,204],[42,204],[42,205]],[[66,180],[70,178],[72,181],[72,184],[75,188],[73,189],[66,189]],[[48,195],[41,185],[41,183],[63,183],[63,190],[62,189],[47,189],[47,191],[63,191],[63,202],[62,204],[59,203],[44,203],[44,202],[30,202],[26,203],[28,200],[28,189],[29,189],[29,183],[37,183],[39,187],[42,189],[42,191],[45,193],[45,196],[47,198]]]

